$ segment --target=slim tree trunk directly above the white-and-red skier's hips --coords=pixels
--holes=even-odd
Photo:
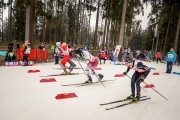
[[[98,36],[98,23],[99,23],[99,6],[100,6],[100,0],[98,0],[98,7],[97,7],[97,15],[96,15],[96,28],[94,33],[94,41],[93,41],[93,48],[96,49],[97,46],[97,36]]]

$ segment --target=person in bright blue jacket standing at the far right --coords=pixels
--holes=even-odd
[[[172,65],[176,61],[176,53],[174,52],[174,48],[171,48],[170,51],[166,55],[167,68],[166,73],[171,73]]]

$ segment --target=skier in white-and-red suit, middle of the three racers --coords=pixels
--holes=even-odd
[[[97,69],[97,66],[99,64],[99,61],[98,61],[97,57],[94,57],[93,55],[91,55],[87,49],[83,49],[83,50],[78,49],[78,50],[75,50],[75,53],[79,54],[86,61],[88,61],[86,69],[85,69],[85,72],[86,72],[86,74],[88,76],[88,80],[85,81],[85,83],[92,83],[91,74],[92,75],[94,75],[94,74],[97,75],[99,80],[101,80],[104,77],[104,75],[95,72],[95,70]]]

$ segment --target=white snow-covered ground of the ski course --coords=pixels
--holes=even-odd
[[[77,61],[75,61],[80,68]],[[86,64],[81,62],[82,66]],[[180,119],[180,75],[166,74],[166,64],[145,62],[154,67],[145,80],[154,84],[158,92],[151,88],[142,90],[141,94],[150,100],[105,110],[123,103],[100,106],[101,103],[124,99],[131,94],[128,77],[114,77],[122,74],[126,66],[109,64],[99,65],[98,72],[104,74],[103,80],[115,80],[88,86],[61,86],[63,84],[81,83],[87,80],[84,74],[70,76],[42,77],[62,73],[59,65],[51,63],[34,66],[0,67],[0,120],[179,120]],[[40,70],[38,73],[27,73],[28,70]],[[74,73],[83,73],[82,69],[74,69]],[[131,70],[128,74],[133,74]],[[160,75],[153,75],[159,72]],[[173,66],[173,72],[180,72],[180,67]],[[41,83],[43,78],[55,78],[57,82]],[[97,78],[93,76],[93,80]],[[141,86],[145,86],[141,83]],[[77,97],[56,100],[62,93],[75,93]]]

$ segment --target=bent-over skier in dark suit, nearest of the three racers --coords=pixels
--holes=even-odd
[[[128,62],[126,63],[128,68],[126,72],[123,74],[126,75],[131,68],[135,69],[134,74],[132,75],[131,78],[131,92],[132,94],[127,97],[127,99],[133,99],[135,101],[139,101],[140,95],[141,95],[141,87],[140,84],[141,82],[144,82],[144,79],[148,76],[150,72],[150,68],[144,65],[142,62],[129,59]],[[135,85],[136,85],[136,97],[135,97]]]

